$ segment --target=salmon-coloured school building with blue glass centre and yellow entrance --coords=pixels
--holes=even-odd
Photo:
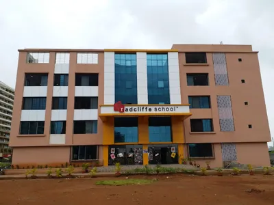
[[[13,164],[269,165],[258,52],[249,45],[18,51]]]

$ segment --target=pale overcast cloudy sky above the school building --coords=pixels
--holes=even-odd
[[[273,0],[0,0],[0,81],[15,87],[18,49],[251,44],[274,137],[273,10]]]

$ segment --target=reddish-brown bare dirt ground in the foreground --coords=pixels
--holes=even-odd
[[[158,180],[147,185],[95,186],[97,180],[124,178],[0,180],[0,204],[274,204],[274,176],[129,176]]]

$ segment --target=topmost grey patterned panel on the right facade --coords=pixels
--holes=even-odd
[[[229,85],[225,53],[213,53],[215,85]]]

